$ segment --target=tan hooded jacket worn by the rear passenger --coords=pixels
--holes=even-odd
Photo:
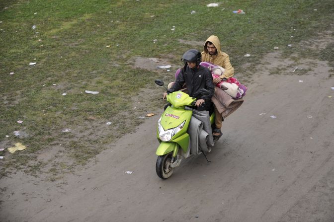
[[[217,49],[217,54],[211,56],[208,49],[206,48],[206,43],[212,42],[212,44]],[[209,62],[218,66],[221,66],[225,69],[225,73],[222,74],[221,78],[229,78],[234,75],[234,68],[231,65],[230,57],[226,53],[220,50],[220,41],[219,38],[215,35],[210,36],[204,43],[204,52],[202,52],[202,62]]]

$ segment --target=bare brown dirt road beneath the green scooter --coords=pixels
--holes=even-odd
[[[224,122],[210,163],[200,155],[167,180],[156,175],[161,111],[64,181],[23,174],[2,179],[0,221],[333,222],[330,68],[318,61],[299,75],[310,65],[303,61],[294,73],[269,75],[289,61],[278,53],[265,60],[245,103]]]

